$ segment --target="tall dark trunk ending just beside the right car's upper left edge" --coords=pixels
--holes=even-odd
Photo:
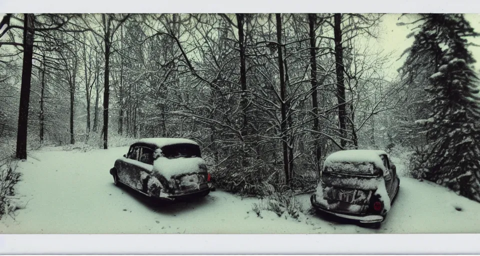
[[[311,83],[311,111],[313,114],[313,130],[319,130],[318,124],[318,85],[316,80],[316,37],[315,37],[316,14],[308,14],[308,27],[310,37],[310,83]],[[321,148],[318,143],[318,134],[314,134],[314,155],[316,158],[317,170],[321,168]]]

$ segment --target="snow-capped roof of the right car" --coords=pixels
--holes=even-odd
[[[373,163],[376,167],[383,168],[383,161],[380,155],[386,154],[384,150],[371,149],[348,149],[340,150],[328,155],[323,166],[330,166],[333,163]]]

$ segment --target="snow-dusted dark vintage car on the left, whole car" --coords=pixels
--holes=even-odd
[[[110,169],[124,184],[152,198],[200,197],[215,190],[200,147],[185,138],[142,138]]]

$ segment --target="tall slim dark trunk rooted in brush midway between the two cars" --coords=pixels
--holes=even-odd
[[[277,51],[278,51],[278,68],[280,75],[280,100],[281,100],[281,123],[280,123],[280,137],[282,143],[283,152],[283,170],[285,172],[286,184],[290,184],[290,171],[288,162],[288,144],[286,141],[286,102],[285,102],[285,80],[283,74],[283,55],[281,45],[281,14],[276,13],[276,39],[277,39]]]

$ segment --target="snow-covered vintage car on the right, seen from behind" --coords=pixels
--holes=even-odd
[[[310,201],[321,212],[379,226],[399,185],[385,151],[341,150],[326,157]]]

